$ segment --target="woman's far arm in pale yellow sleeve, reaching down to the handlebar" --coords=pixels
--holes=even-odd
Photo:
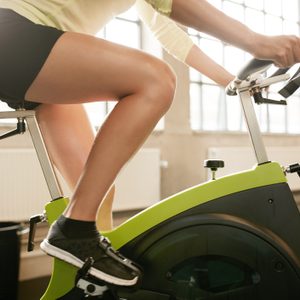
[[[233,75],[203,53],[174,21],[143,0],[138,0],[136,7],[140,18],[171,55],[224,87],[231,81]]]

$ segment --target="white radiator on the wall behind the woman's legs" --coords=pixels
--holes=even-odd
[[[65,196],[71,192],[59,176]],[[160,151],[141,149],[116,180],[114,210],[148,207],[160,199]],[[0,149],[0,221],[23,221],[50,199],[34,149]]]

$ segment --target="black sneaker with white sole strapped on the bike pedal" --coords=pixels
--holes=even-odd
[[[41,243],[41,249],[78,268],[83,266],[87,258],[92,257],[94,263],[89,274],[110,284],[132,286],[141,275],[139,268],[115,251],[105,237],[99,234],[95,238],[69,239],[64,236],[56,222]]]

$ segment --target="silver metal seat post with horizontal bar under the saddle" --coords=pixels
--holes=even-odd
[[[24,118],[31,135],[31,139],[40,162],[49,193],[52,200],[61,198],[63,193],[59,181],[57,179],[52,162],[48,155],[42,133],[36,120],[34,110],[16,110],[0,112],[0,119],[18,119]]]

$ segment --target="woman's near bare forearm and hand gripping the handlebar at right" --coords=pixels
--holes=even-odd
[[[257,58],[278,66],[300,61],[300,39],[296,36],[265,36],[230,18],[205,0],[173,0],[170,17],[237,46]]]

